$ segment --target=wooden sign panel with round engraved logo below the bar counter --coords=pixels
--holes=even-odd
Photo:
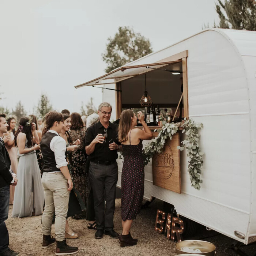
[[[180,178],[180,133],[173,135],[172,140],[167,139],[161,154],[155,154],[152,160],[153,184],[181,193]]]

